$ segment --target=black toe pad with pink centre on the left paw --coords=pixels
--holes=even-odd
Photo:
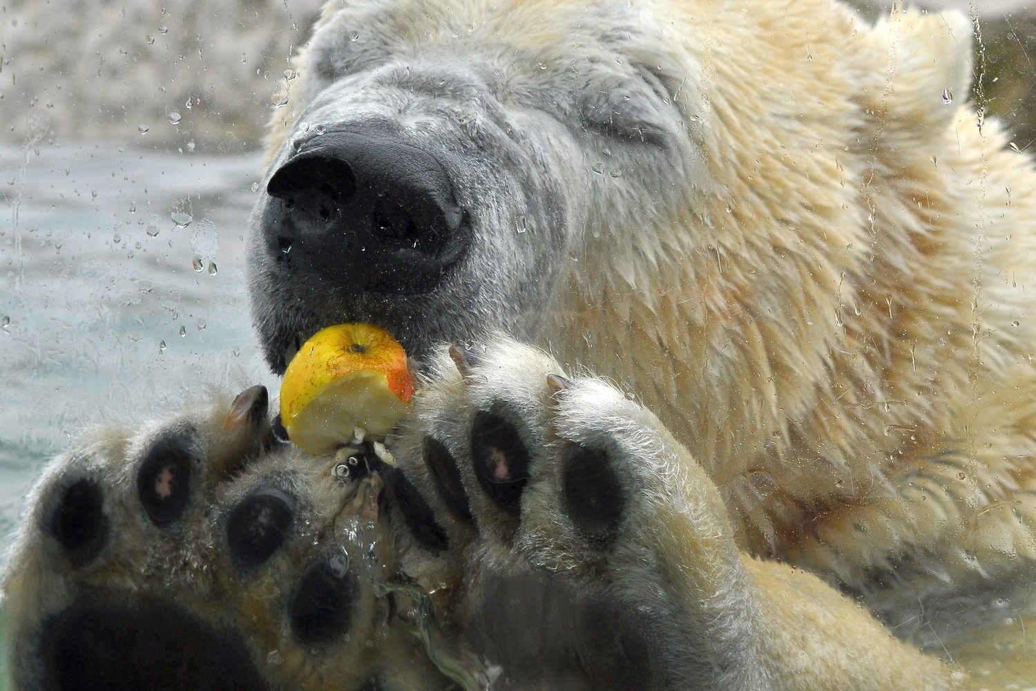
[[[144,455],[137,471],[137,493],[155,525],[170,525],[183,515],[191,499],[193,463],[182,433],[159,438]]]

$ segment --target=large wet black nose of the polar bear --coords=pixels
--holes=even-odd
[[[439,161],[387,134],[325,132],[266,185],[269,251],[349,292],[425,293],[470,240]]]

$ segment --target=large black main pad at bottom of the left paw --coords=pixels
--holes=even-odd
[[[42,625],[40,688],[271,691],[244,641],[172,602],[82,598]]]

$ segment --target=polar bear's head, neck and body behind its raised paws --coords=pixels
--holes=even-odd
[[[1036,176],[897,5],[330,3],[251,252],[283,371],[330,323],[499,328],[643,401],[753,554],[904,635],[1036,554]]]

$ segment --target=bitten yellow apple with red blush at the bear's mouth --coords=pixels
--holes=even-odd
[[[328,326],[307,341],[284,372],[281,423],[310,454],[330,454],[362,430],[387,434],[406,412],[413,378],[392,335],[358,322]]]

